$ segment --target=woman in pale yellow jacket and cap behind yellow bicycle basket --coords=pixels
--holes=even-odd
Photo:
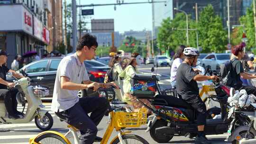
[[[137,70],[137,65],[140,65],[141,62],[141,56],[138,53],[133,53],[131,55],[131,59],[127,63],[126,68],[123,72],[119,74],[120,77],[124,79],[123,81],[123,101],[127,102],[128,105],[131,105],[134,108],[134,111],[136,112],[139,108],[144,107],[139,101],[137,101],[136,97],[133,97],[131,94],[131,77],[133,74],[141,73]],[[147,99],[141,99],[146,105],[150,106],[150,102]],[[151,112],[148,111],[148,114]]]

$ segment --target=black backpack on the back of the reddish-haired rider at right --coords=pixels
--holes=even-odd
[[[232,61],[227,61],[225,63],[221,63],[219,65],[220,68],[220,78],[222,79],[222,82],[224,85],[231,85],[232,79],[231,79],[231,72],[232,72],[232,63],[235,61],[233,59]]]

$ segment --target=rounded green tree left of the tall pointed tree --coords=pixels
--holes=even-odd
[[[196,23],[189,16],[189,28],[196,28]],[[175,50],[179,45],[186,45],[186,16],[177,13],[173,20],[166,18],[163,20],[157,36],[157,45],[161,51],[168,49]],[[189,46],[196,47],[196,31],[189,31]]]

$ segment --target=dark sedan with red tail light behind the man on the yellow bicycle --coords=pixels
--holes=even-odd
[[[21,69],[24,72],[26,72],[27,76],[31,79],[31,85],[40,85],[48,87],[50,93],[48,97],[52,97],[57,68],[62,58],[63,57],[44,58],[29,63]],[[109,66],[105,65],[104,63],[97,62],[95,60],[86,60],[84,61],[84,64],[90,77],[90,80],[96,82],[103,82],[106,72],[110,69]],[[7,81],[12,80],[13,79],[11,78],[7,79]],[[90,91],[87,94],[90,95],[91,93],[93,92]]]

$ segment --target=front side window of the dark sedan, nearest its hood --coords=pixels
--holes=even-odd
[[[27,67],[26,72],[32,73],[32,72],[46,72],[46,65],[48,61],[40,61],[37,63],[33,63],[29,67]]]

